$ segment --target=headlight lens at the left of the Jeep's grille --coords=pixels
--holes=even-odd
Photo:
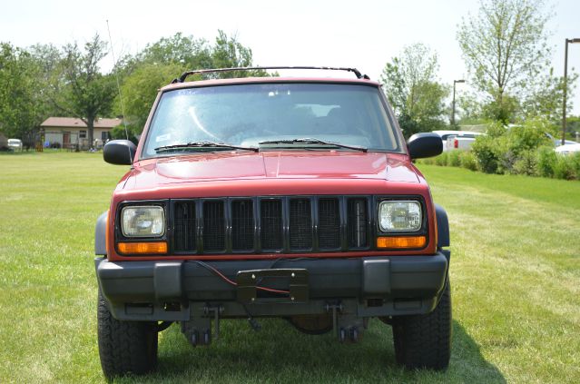
[[[165,233],[165,213],[162,207],[124,207],[121,229],[125,237],[159,237]]]

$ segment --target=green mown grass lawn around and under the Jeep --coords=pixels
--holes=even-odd
[[[103,382],[93,231],[127,167],[101,154],[0,156],[0,382]],[[162,332],[156,374],[121,382],[580,382],[580,182],[421,165],[451,223],[444,373],[395,364],[390,328],[307,336],[224,320],[210,348]]]

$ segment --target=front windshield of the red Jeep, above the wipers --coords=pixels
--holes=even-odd
[[[211,142],[271,150],[278,144],[260,143],[306,138],[401,153],[398,133],[378,93],[376,87],[353,84],[241,84],[166,92],[153,116],[142,157],[167,155],[168,151],[155,149],[178,144]],[[282,146],[287,149],[288,143]],[[207,152],[208,147],[192,145],[175,152]],[[291,147],[325,146],[297,141]],[[211,148],[220,150],[231,148]]]

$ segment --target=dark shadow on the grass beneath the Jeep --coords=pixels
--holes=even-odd
[[[457,321],[445,372],[399,367],[391,329],[379,320],[357,344],[340,344],[332,333],[303,335],[284,320],[261,325],[255,332],[245,320],[222,320],[220,340],[209,348],[192,348],[173,325],[160,339],[158,371],[120,382],[506,382]]]

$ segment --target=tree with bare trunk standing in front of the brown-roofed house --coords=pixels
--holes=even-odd
[[[113,76],[99,70],[106,47],[98,34],[84,44],[84,52],[76,43],[65,45],[60,76],[54,82],[54,104],[86,124],[90,146],[93,145],[94,121],[111,113],[116,94]]]

